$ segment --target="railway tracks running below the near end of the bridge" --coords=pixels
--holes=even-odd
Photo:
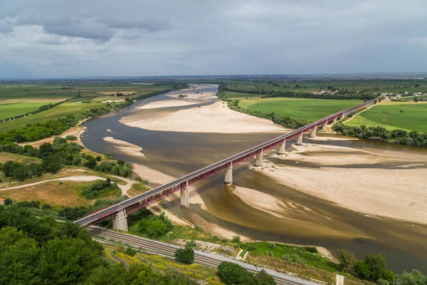
[[[88,232],[94,237],[103,237],[107,242],[121,242],[122,244],[129,244],[131,247],[138,249],[143,249],[146,252],[160,254],[165,257],[174,258],[176,249],[181,249],[182,247],[176,246],[174,244],[165,244],[163,242],[157,242],[152,239],[144,239],[142,237],[133,236],[131,234],[123,234],[120,232],[115,232],[110,229],[103,229],[102,227],[89,226]],[[296,276],[290,276],[287,274],[282,274],[270,269],[265,269],[263,267],[256,267],[251,264],[246,264],[241,261],[236,261],[228,257],[223,257],[217,254],[211,254],[207,252],[201,252],[198,250],[194,251],[194,263],[200,264],[203,266],[208,266],[211,268],[217,268],[222,261],[230,261],[236,264],[243,266],[248,271],[253,273],[258,273],[262,269],[267,271],[270,276],[273,276],[278,285],[318,285],[315,281],[307,281],[305,279],[300,279]]]

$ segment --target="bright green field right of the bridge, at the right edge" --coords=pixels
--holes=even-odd
[[[404,110],[404,113],[400,113]],[[387,114],[387,125],[382,125],[383,112]],[[427,104],[426,103],[403,103],[384,102],[364,111],[350,120],[347,125],[366,125],[376,127],[381,125],[389,130],[396,128],[403,130],[417,130],[427,133]]]

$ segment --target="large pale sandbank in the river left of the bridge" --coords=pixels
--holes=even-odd
[[[149,118],[141,118],[137,113],[133,113],[122,118],[120,123],[146,130],[187,133],[285,133],[287,131],[270,120],[230,110],[225,102],[216,98],[215,92],[194,94],[197,90],[199,89],[189,90],[186,98],[178,98],[179,94],[170,95],[171,100],[154,101],[140,108],[169,108],[197,103],[211,103],[210,105],[165,112]]]

